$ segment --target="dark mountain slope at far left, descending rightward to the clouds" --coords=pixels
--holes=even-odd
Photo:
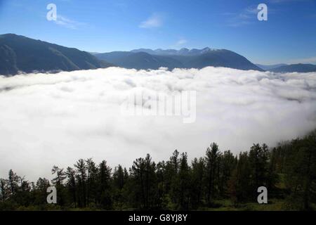
[[[0,35],[0,75],[16,75],[19,71],[88,70],[111,65],[78,49],[16,34]]]

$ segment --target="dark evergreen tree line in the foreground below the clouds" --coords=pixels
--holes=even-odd
[[[282,210],[315,210],[316,131],[275,148],[254,144],[238,155],[211,143],[192,162],[174,150],[167,161],[147,154],[129,169],[89,158],[51,172],[51,181],[30,182],[11,169],[0,179],[0,210],[208,210],[217,200],[256,203],[259,186],[269,199],[284,201]],[[48,186],[57,189],[56,205],[46,203]]]

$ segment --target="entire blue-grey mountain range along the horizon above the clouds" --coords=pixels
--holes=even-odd
[[[0,75],[19,72],[88,70],[119,66],[134,69],[204,68],[206,66],[272,72],[315,72],[312,64],[254,65],[227,49],[134,49],[88,53],[17,34],[0,35]]]

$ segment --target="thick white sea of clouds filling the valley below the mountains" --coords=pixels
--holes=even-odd
[[[134,91],[197,91],[196,121],[180,116],[126,116]],[[79,158],[131,166],[173,150],[190,159],[216,142],[239,153],[253,143],[275,146],[316,127],[316,73],[230,68],[127,70],[0,76],[0,177],[13,169],[29,180]]]

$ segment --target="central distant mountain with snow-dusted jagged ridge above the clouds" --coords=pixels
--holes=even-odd
[[[95,54],[100,60],[123,68],[158,69],[204,68],[206,66],[235,68],[239,70],[260,70],[258,66],[239,54],[226,49],[135,49]]]

